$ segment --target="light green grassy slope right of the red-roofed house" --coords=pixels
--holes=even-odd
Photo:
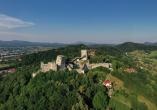
[[[151,53],[150,53],[151,54]],[[134,109],[138,108],[139,110],[157,110],[156,103],[154,102],[155,99],[151,96],[148,97],[152,94],[155,93],[156,89],[156,79],[153,78],[154,75],[157,75],[157,60],[150,58],[149,54],[145,54],[144,52],[132,52],[131,56],[140,60],[137,60],[138,66],[143,67],[144,70],[149,71],[148,73],[143,73],[147,74],[146,77],[148,78],[148,82],[146,85],[141,85],[141,86],[131,86],[131,88],[128,88],[126,86],[126,79],[121,77],[117,77],[114,74],[108,74],[107,79],[111,80],[114,83],[114,88],[115,91],[118,91],[117,93],[115,92],[115,95],[111,98],[110,105],[115,107],[115,110],[119,110],[119,108],[123,108],[123,110],[129,110],[131,107],[135,107]],[[147,60],[147,61],[146,61]],[[148,63],[147,63],[148,62]],[[150,73],[150,74],[149,74]],[[152,73],[152,74],[151,74]],[[116,73],[117,74],[117,73]],[[130,75],[126,78],[128,78],[128,81],[131,81],[131,85],[136,85],[132,82],[138,82],[144,77],[142,74],[133,74]],[[126,76],[126,74],[124,74]],[[133,78],[133,80],[131,79]],[[139,82],[137,85],[140,85]],[[140,91],[135,92],[140,88],[145,88],[146,91],[143,91],[143,95],[141,94]],[[147,94],[149,91],[149,94]]]

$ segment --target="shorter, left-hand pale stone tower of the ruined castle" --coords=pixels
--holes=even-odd
[[[65,57],[63,55],[58,55],[56,59],[56,64],[59,69],[65,69]]]

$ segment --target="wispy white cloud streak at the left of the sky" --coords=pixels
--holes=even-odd
[[[29,27],[33,25],[34,23],[32,22],[27,22],[15,17],[0,14],[0,29],[13,29],[20,27]]]

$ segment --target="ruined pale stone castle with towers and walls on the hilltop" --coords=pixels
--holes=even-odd
[[[48,62],[44,64],[41,62],[40,70],[36,73],[33,73],[33,77],[35,77],[39,72],[48,72],[50,70],[59,71],[59,70],[76,70],[78,73],[86,73],[88,70],[96,68],[96,67],[106,67],[112,70],[111,63],[89,63],[89,56],[94,56],[94,50],[81,50],[81,57],[76,57],[71,61],[66,61],[65,56],[58,55],[55,62]]]

